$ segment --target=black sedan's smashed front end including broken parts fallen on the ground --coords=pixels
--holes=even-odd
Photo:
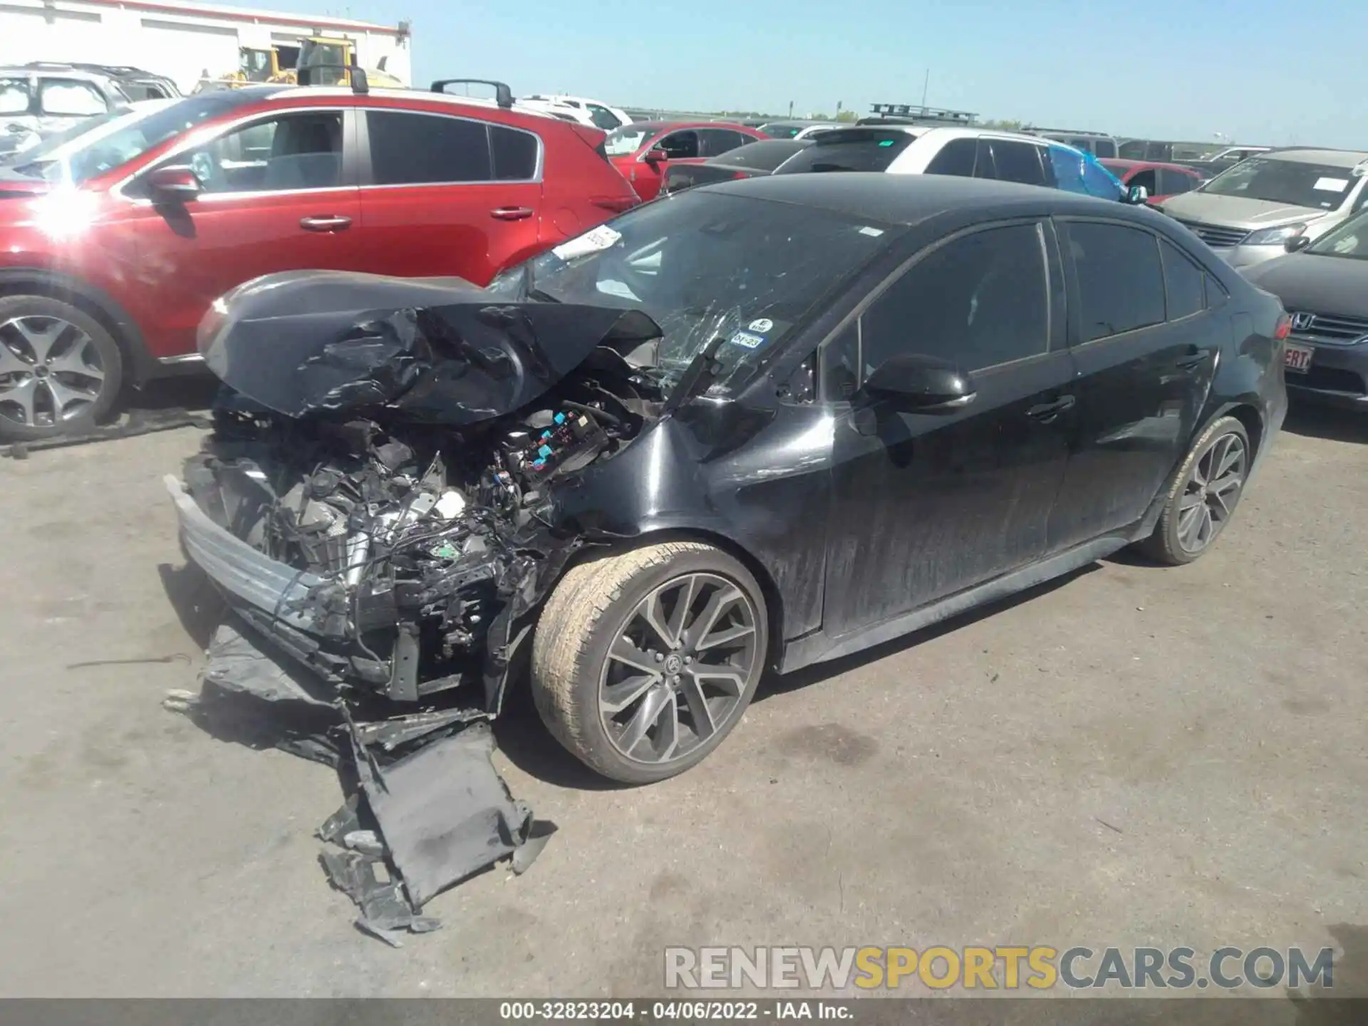
[[[436,893],[503,859],[521,873],[555,829],[495,772],[490,721],[566,562],[609,540],[558,495],[659,417],[659,328],[464,287],[386,309],[436,294],[346,285],[274,275],[201,326],[226,389],[167,486],[231,611],[200,694],[168,707],[339,772],[323,866],[398,944],[438,925]]]

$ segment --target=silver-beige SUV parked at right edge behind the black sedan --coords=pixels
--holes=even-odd
[[[1242,160],[1160,209],[1233,267],[1283,254],[1295,235],[1319,238],[1368,204],[1368,152],[1276,149]]]

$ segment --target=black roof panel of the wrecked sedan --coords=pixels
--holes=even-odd
[[[956,175],[889,175],[878,171],[767,175],[699,186],[698,192],[792,202],[891,224],[917,224],[938,213],[975,208],[1001,216],[1040,212],[1105,213],[1131,220],[1142,216],[1138,207],[1115,200]]]

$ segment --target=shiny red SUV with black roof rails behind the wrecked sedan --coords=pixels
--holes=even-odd
[[[228,289],[330,268],[487,283],[637,202],[598,129],[434,92],[150,101],[0,168],[0,438],[193,368]]]

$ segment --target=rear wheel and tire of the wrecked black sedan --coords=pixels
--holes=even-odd
[[[1168,488],[1155,534],[1140,550],[1170,566],[1205,553],[1235,513],[1253,450],[1249,432],[1235,417],[1218,417],[1198,435]]]

